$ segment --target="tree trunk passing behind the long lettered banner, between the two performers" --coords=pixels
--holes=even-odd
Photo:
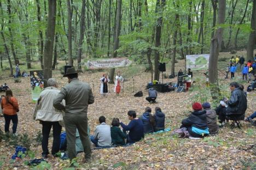
[[[119,48],[119,35],[120,35],[120,28],[121,28],[121,9],[122,9],[122,0],[117,0],[117,18],[116,18],[116,24],[115,24],[115,40],[114,40],[113,57],[117,57],[117,50]],[[115,73],[115,68],[112,68],[109,74],[109,83],[114,83],[114,73]]]

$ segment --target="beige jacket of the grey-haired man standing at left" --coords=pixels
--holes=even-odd
[[[60,90],[55,87],[47,87],[40,93],[34,109],[34,120],[63,121],[62,112],[53,106],[53,101],[59,93]],[[65,100],[62,101],[62,104],[65,105]]]

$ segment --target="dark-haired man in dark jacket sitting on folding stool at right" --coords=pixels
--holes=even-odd
[[[247,99],[245,93],[239,87],[237,82],[230,83],[231,96],[230,100],[224,100],[228,107],[226,108],[226,117],[244,117],[247,109]]]

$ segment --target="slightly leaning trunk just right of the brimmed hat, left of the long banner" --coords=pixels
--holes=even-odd
[[[83,0],[82,3],[82,9],[81,9],[81,19],[80,19],[80,37],[78,42],[78,70],[82,71],[81,67],[81,58],[82,58],[82,45],[84,41],[84,31],[85,31],[85,0]]]

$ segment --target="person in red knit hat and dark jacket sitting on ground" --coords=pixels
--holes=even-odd
[[[194,111],[188,118],[182,120],[180,128],[186,127],[191,137],[203,138],[210,133],[207,127],[206,111],[202,111],[202,105],[199,102],[195,102],[192,107]]]

